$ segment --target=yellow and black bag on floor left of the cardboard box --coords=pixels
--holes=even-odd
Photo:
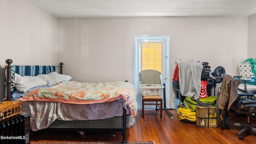
[[[190,124],[196,124],[196,112],[191,112],[191,110],[186,108],[186,106],[180,104],[178,106],[177,114],[180,121]]]

